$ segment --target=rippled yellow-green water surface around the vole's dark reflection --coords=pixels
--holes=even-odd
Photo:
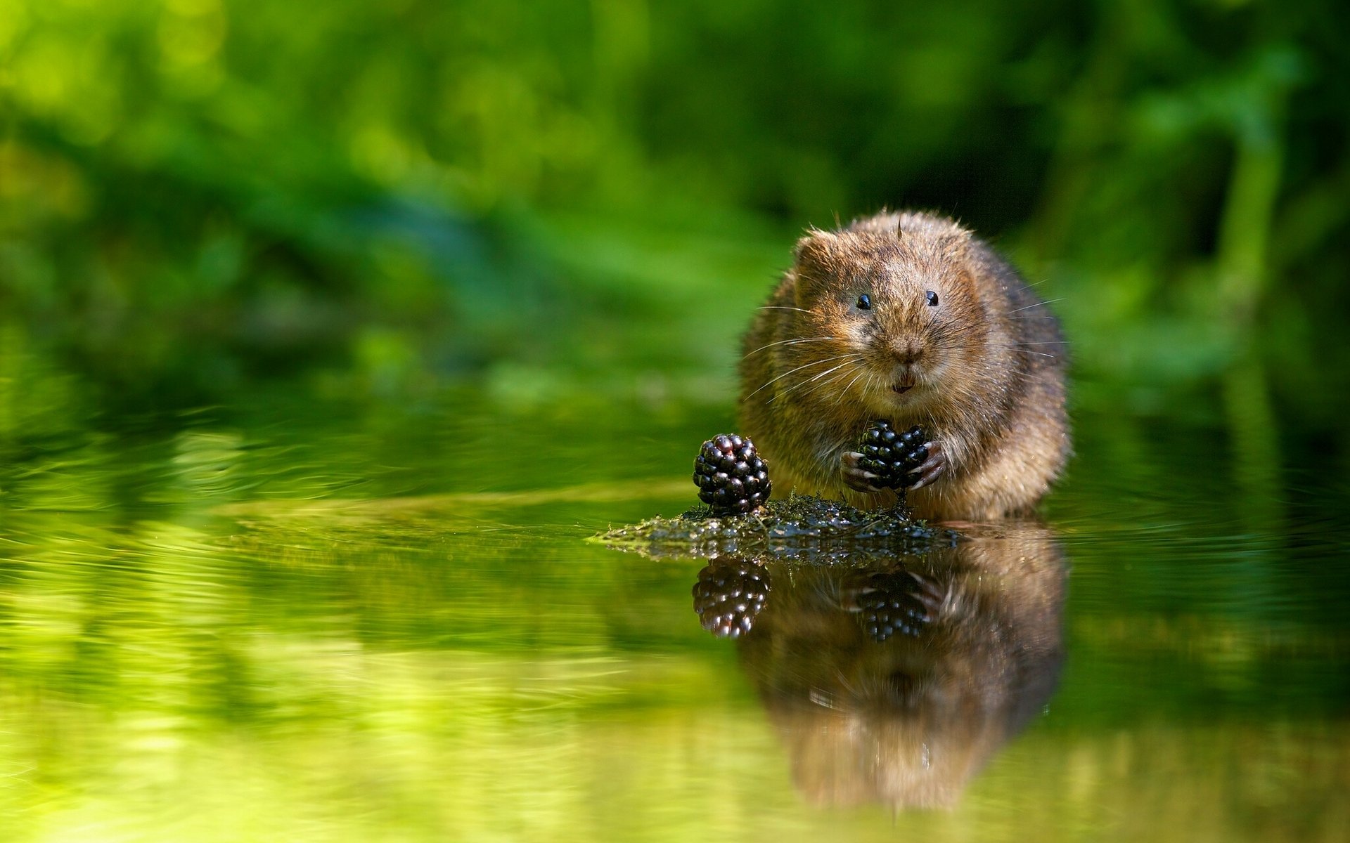
[[[836,670],[837,700],[838,665],[873,664],[832,666],[856,653],[842,615],[796,651],[809,615],[775,585],[778,620],[717,639],[690,595],[705,560],[582,541],[684,508],[722,410],[252,406],[9,429],[5,840],[1316,840],[1350,819],[1343,529],[1299,507],[1250,529],[1196,430],[1150,428],[1200,442],[1150,452],[1081,421],[1044,540],[1072,568],[1058,691],[1018,736],[977,730],[929,800],[949,808],[892,817],[914,800],[811,738],[841,708],[791,691]],[[1022,569],[1014,540],[987,540],[988,571]],[[806,600],[824,575],[791,576]],[[1053,618],[996,581],[972,593]],[[1015,626],[968,630],[992,642],[973,687],[1023,658],[990,656]]]

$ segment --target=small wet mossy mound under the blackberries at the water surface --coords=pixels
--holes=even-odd
[[[653,558],[736,553],[814,562],[869,553],[921,553],[956,542],[954,533],[913,519],[903,506],[864,513],[841,500],[810,495],[770,500],[749,515],[716,517],[710,507],[695,506],[679,518],[649,518],[597,538]]]

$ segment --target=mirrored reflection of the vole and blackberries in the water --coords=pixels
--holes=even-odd
[[[807,798],[946,807],[1053,693],[1066,571],[1017,522],[925,556],[720,557],[695,610],[737,638]]]

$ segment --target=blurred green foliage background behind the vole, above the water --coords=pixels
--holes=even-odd
[[[1345,35],[1332,0],[0,0],[0,436],[278,382],[730,406],[796,232],[921,206],[1044,281],[1080,407],[1345,461]]]

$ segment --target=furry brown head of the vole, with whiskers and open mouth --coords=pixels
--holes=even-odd
[[[840,366],[821,376],[825,391],[888,418],[959,397],[988,333],[969,250],[969,232],[917,214],[802,237],[796,306],[811,336],[829,337],[803,351],[832,359],[803,372]]]

